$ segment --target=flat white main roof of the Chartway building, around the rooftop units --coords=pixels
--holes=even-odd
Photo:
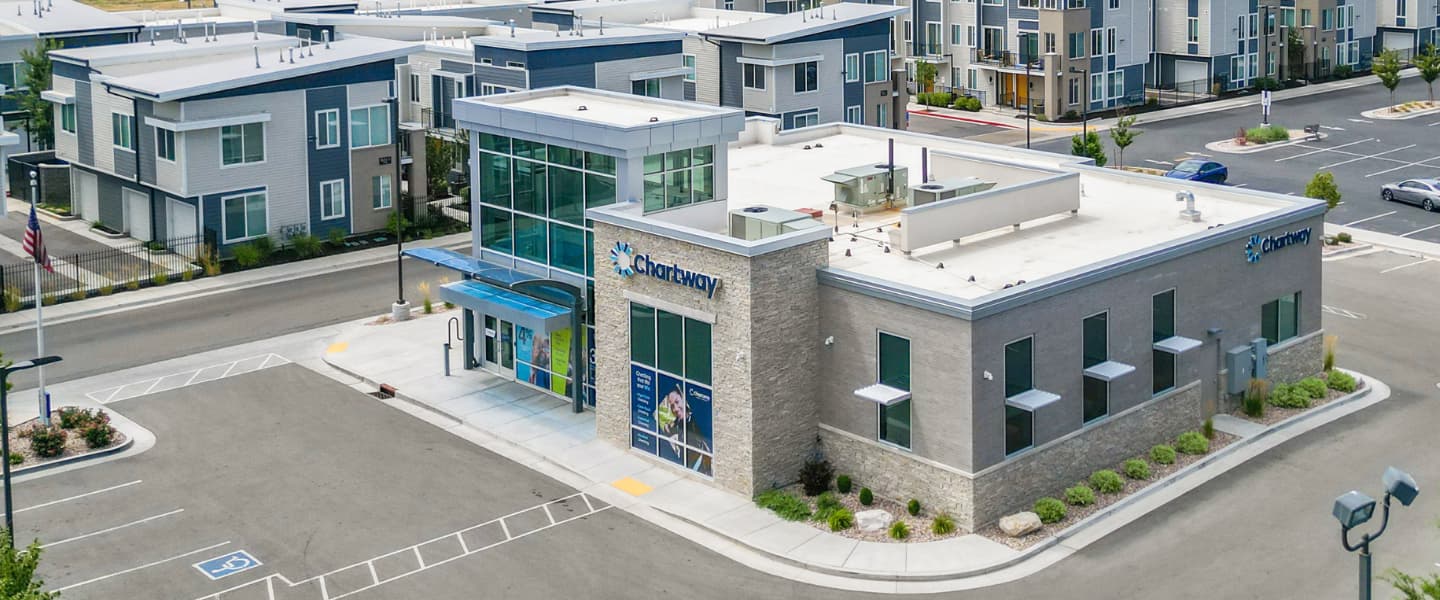
[[[762,122],[765,121],[752,119],[747,125],[753,128]],[[920,184],[922,147],[932,153],[932,181],[989,178],[984,164],[936,168],[936,153],[1045,168],[1076,168],[1074,157],[1068,155],[851,125],[821,125],[778,134],[773,142],[746,142],[755,138],[742,135],[740,142],[732,144],[729,209],[757,204],[789,210],[818,209],[825,214],[825,224],[834,226],[835,213],[829,206],[835,199],[835,184],[821,177],[865,163],[884,164],[887,138],[894,138],[896,164],[907,167],[912,187]],[[805,150],[806,145],[809,150]],[[1007,226],[960,237],[958,243],[920,247],[912,256],[899,249],[887,253],[890,239],[887,233],[877,232],[877,227],[894,227],[900,220],[899,209],[865,214],[858,219],[858,226],[855,219],[841,210],[840,235],[829,245],[829,265],[910,288],[976,299],[1005,289],[1007,283],[1034,282],[1175,242],[1217,224],[1295,206],[1277,197],[1218,186],[1089,167],[1079,170],[1083,191],[1076,214],[1064,212],[1021,223],[1020,230]],[[1037,178],[1040,177],[1037,171]],[[1195,194],[1201,222],[1181,219],[1184,203],[1175,201],[1179,190]],[[850,256],[845,255],[847,250]],[[945,265],[943,269],[937,268],[940,263]]]

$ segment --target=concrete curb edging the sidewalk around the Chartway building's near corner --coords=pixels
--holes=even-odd
[[[1356,390],[1356,391],[1354,391],[1354,393],[1351,393],[1348,396],[1335,399],[1335,401],[1332,401],[1329,404],[1325,404],[1322,407],[1318,407],[1315,410],[1308,410],[1305,413],[1296,414],[1296,416],[1293,416],[1290,419],[1286,419],[1283,422],[1272,424],[1272,426],[1266,427],[1263,432],[1254,435],[1253,437],[1243,437],[1243,439],[1237,440],[1236,443],[1231,443],[1230,446],[1225,446],[1224,449],[1221,449],[1218,452],[1210,453],[1205,458],[1202,458],[1200,460],[1195,460],[1194,463],[1187,465],[1184,469],[1179,469],[1179,471],[1168,475],[1165,479],[1159,479],[1155,483],[1148,485],[1143,489],[1140,489],[1140,491],[1138,491],[1138,492],[1135,492],[1135,494],[1132,494],[1129,496],[1125,496],[1123,499],[1120,499],[1120,501],[1117,501],[1117,502],[1115,502],[1115,504],[1112,504],[1112,505],[1109,505],[1109,506],[1106,506],[1106,508],[1103,508],[1100,511],[1096,511],[1094,514],[1086,517],[1084,519],[1076,522],[1074,525],[1070,525],[1070,527],[1067,527],[1067,528],[1056,532],[1056,535],[1053,535],[1053,537],[1050,537],[1050,538],[1047,538],[1044,541],[1035,542],[1035,545],[1031,545],[1030,548],[1022,550],[1015,557],[1007,558],[1007,560],[995,563],[995,564],[989,564],[989,565],[979,567],[979,568],[971,568],[971,570],[965,570],[965,571],[933,573],[933,574],[914,574],[914,576],[909,576],[909,574],[881,574],[881,573],[871,573],[871,571],[852,571],[852,570],[835,568],[835,567],[829,567],[829,565],[819,565],[819,564],[805,563],[805,561],[799,561],[799,560],[795,560],[795,558],[791,558],[791,557],[775,554],[775,553],[772,553],[769,550],[765,550],[765,548],[755,547],[755,545],[752,545],[752,544],[749,544],[749,542],[746,542],[746,541],[743,541],[740,538],[736,538],[734,535],[730,535],[730,534],[727,534],[724,531],[711,528],[711,527],[708,527],[706,524],[697,522],[697,521],[690,519],[687,517],[683,517],[683,515],[665,511],[661,506],[651,506],[651,508],[655,508],[657,511],[660,511],[661,514],[665,514],[668,517],[678,518],[678,519],[681,519],[681,521],[684,521],[684,522],[687,522],[690,525],[703,528],[703,529],[706,529],[706,531],[708,531],[708,532],[711,532],[714,535],[720,535],[720,537],[729,540],[730,542],[737,544],[740,547],[744,547],[744,548],[747,548],[747,550],[750,550],[753,553],[759,553],[759,554],[765,555],[766,558],[772,558],[772,560],[776,560],[776,561],[780,561],[780,563],[798,565],[798,567],[802,567],[805,570],[815,571],[815,573],[822,573],[822,574],[827,574],[827,576],[838,576],[838,577],[848,577],[848,578],[863,578],[863,580],[871,580],[871,581],[914,581],[914,583],[946,581],[946,580],[960,580],[960,578],[968,578],[968,577],[976,577],[976,576],[984,576],[984,574],[995,573],[995,571],[999,571],[999,570],[1004,570],[1004,568],[1009,568],[1009,567],[1018,565],[1021,563],[1030,561],[1030,560],[1038,557],[1041,553],[1044,553],[1047,550],[1051,550],[1053,547],[1058,545],[1060,542],[1063,542],[1066,540],[1070,540],[1070,538],[1073,538],[1073,537],[1084,532],[1090,527],[1103,522],[1106,518],[1112,517],[1113,514],[1119,512],[1120,509],[1128,508],[1128,506],[1130,506],[1130,505],[1133,505],[1133,504],[1136,504],[1136,502],[1139,502],[1139,501],[1142,501],[1145,498],[1149,498],[1153,494],[1158,494],[1159,491],[1171,488],[1175,483],[1179,483],[1184,478],[1195,473],[1197,471],[1200,471],[1200,469],[1202,469],[1202,468],[1205,468],[1208,465],[1215,463],[1220,459],[1228,458],[1230,455],[1238,452],[1243,447],[1253,446],[1254,443],[1257,443],[1260,440],[1264,440],[1264,439],[1276,435],[1276,432],[1282,432],[1282,430],[1293,427],[1296,423],[1303,423],[1303,422],[1315,419],[1315,417],[1318,417],[1320,414],[1328,414],[1331,412],[1335,412],[1339,407],[1349,406],[1349,404],[1352,404],[1355,401],[1359,401],[1359,400],[1368,397],[1371,393],[1375,391],[1377,387],[1369,383],[1374,378],[1367,377],[1367,376],[1359,376],[1359,374],[1356,374],[1354,371],[1346,371],[1346,373],[1351,373],[1351,374],[1354,374],[1356,377],[1365,377],[1364,378],[1364,381],[1367,383],[1365,388],[1364,390]],[[1305,433],[1305,432],[1302,432],[1302,433]],[[1236,465],[1233,465],[1233,466],[1230,466],[1230,468],[1227,468],[1224,471],[1220,471],[1220,472],[1214,473],[1212,476],[1210,476],[1210,478],[1207,478],[1204,481],[1200,481],[1197,485],[1208,483],[1215,476],[1224,475],[1225,472],[1228,472],[1228,471],[1231,471],[1231,469],[1234,469],[1234,468],[1237,468],[1240,465],[1244,465],[1250,459],[1253,459],[1256,456],[1260,456],[1260,455],[1263,455],[1264,452],[1269,452],[1269,450],[1270,449],[1264,449],[1264,450],[1256,453],[1254,456],[1244,458],[1240,462],[1237,462]],[[1133,522],[1135,519],[1138,519],[1140,517],[1145,517],[1145,515],[1153,512],[1155,509],[1158,509],[1161,506],[1164,506],[1164,504],[1156,505],[1156,506],[1153,506],[1151,509],[1146,509],[1145,512],[1140,512],[1140,514],[1135,515],[1130,521],[1128,521],[1125,524],[1120,524],[1119,527],[1125,527],[1126,524]],[[1099,538],[1103,538],[1104,535],[1109,535],[1109,532],[1100,534]],[[1096,540],[1099,540],[1099,538],[1096,538]],[[1086,545],[1089,545],[1089,544],[1086,544]],[[1083,545],[1081,545],[1081,548],[1083,548]],[[1079,550],[1079,548],[1076,548],[1076,550]]]

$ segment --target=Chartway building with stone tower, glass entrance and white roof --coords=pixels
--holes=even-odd
[[[455,118],[475,250],[419,253],[469,364],[740,495],[818,450],[973,529],[1320,368],[1308,199],[579,88]]]

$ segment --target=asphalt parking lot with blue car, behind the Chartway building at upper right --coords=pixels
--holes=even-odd
[[[1374,79],[1374,78],[1371,78]],[[1405,79],[1395,92],[1397,102],[1426,98],[1418,78]],[[1378,83],[1276,102],[1270,121],[1299,129],[1319,124],[1319,141],[1303,141],[1251,154],[1223,154],[1205,144],[1234,137],[1241,128],[1256,127],[1260,108],[1248,106],[1223,112],[1158,121],[1139,127],[1143,134],[1126,148],[1126,164],[1169,168],[1191,158],[1205,157],[1230,170],[1228,184],[1302,196],[1305,184],[1318,171],[1335,174],[1342,204],[1326,216],[1336,224],[1352,224],[1381,233],[1426,242],[1440,242],[1440,213],[1426,213],[1417,206],[1387,203],[1380,186],[1416,177],[1440,177],[1440,114],[1404,121],[1367,119],[1361,112],[1390,104]],[[1106,148],[1113,151],[1107,134]],[[1068,153],[1070,140],[1051,140],[1037,148]]]

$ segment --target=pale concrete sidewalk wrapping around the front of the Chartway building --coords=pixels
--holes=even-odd
[[[981,535],[936,542],[887,544],[845,538],[788,522],[739,496],[595,436],[595,414],[569,401],[480,370],[461,368],[459,342],[444,376],[449,318],[459,311],[416,315],[406,322],[348,325],[324,354],[331,367],[369,390],[393,386],[416,410],[477,443],[677,532],[752,568],[834,588],[929,593],[1012,581],[1060,561],[1104,534],[1238,466],[1284,439],[1388,396],[1384,384],[1260,430],[1151,485],[1100,514],[1025,551]],[[366,388],[366,387],[361,387]],[[1236,427],[1240,429],[1240,427]]]

